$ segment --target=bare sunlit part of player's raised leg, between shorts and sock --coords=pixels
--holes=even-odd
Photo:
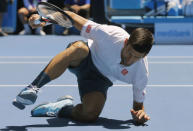
[[[56,55],[44,71],[50,76],[51,80],[56,79],[63,74],[67,67],[78,66],[88,53],[89,48],[82,41],[77,41]]]

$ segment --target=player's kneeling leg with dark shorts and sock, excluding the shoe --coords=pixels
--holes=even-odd
[[[112,82],[94,66],[91,53],[81,62],[80,66],[69,67],[69,70],[77,76],[82,103],[75,106],[71,113],[62,108],[58,112],[58,117],[70,117],[80,122],[96,121],[104,107],[106,93],[112,86]]]

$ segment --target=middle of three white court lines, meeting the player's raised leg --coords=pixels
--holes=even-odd
[[[15,62],[6,62],[2,61],[0,64],[48,64],[49,61],[15,61]],[[168,62],[168,61],[155,61],[155,62],[148,62],[149,64],[193,64],[193,62],[181,62],[181,61],[175,61],[175,62]]]

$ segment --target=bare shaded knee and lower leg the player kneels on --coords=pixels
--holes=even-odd
[[[72,109],[71,118],[80,122],[95,122],[104,107],[105,101],[106,98],[101,92],[85,94],[82,98],[82,104],[78,104]],[[66,117],[65,110],[60,110],[58,116]]]

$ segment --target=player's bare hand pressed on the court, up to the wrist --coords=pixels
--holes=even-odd
[[[150,120],[150,117],[145,113],[144,110],[135,111],[131,109],[131,115],[133,117],[133,120],[138,124],[144,124],[145,122]]]

